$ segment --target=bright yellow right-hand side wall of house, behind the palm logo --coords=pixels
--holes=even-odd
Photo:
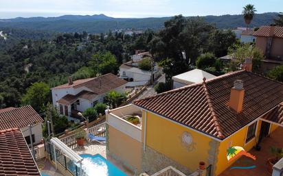
[[[261,121],[258,121],[257,131],[256,131],[256,137],[258,138],[260,134],[260,125]],[[247,129],[248,127],[244,127],[240,131],[236,132],[229,138],[225,139],[223,142],[220,142],[219,146],[219,153],[218,153],[218,160],[216,164],[216,175],[222,173],[225,171],[226,168],[231,166],[232,163],[228,163],[226,154],[227,149],[229,147],[239,146],[245,149],[245,151],[249,151],[253,148],[253,146],[256,145],[256,138],[253,138],[247,144],[245,144],[245,139],[247,135]]]

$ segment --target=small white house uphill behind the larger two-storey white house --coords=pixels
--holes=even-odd
[[[119,75],[122,79],[128,81],[127,86],[142,86],[148,84],[150,80],[155,80],[157,73],[159,73],[159,66],[156,63],[153,64],[153,71],[144,71],[139,68],[139,62],[144,58],[150,58],[151,55],[148,52],[138,53],[132,55],[132,60],[122,64],[119,68]]]

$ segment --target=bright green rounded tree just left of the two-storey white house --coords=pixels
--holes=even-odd
[[[41,112],[42,108],[47,105],[50,100],[50,88],[44,82],[35,82],[27,88],[27,92],[23,95],[22,103],[24,105],[32,105],[36,112]]]

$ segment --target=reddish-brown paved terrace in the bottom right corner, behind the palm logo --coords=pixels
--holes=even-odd
[[[267,159],[272,157],[270,152],[271,147],[283,148],[283,127],[278,127],[273,133],[262,140],[261,150],[251,149],[249,153],[256,156],[256,161],[253,161],[245,156],[242,156],[231,166],[247,166],[254,163],[256,168],[251,169],[231,169],[227,168],[220,176],[271,176],[267,170]],[[249,163],[247,163],[249,162]]]

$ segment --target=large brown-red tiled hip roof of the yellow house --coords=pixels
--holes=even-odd
[[[242,112],[228,107],[234,81],[244,82]],[[245,127],[283,101],[283,84],[248,71],[237,71],[159,95],[135,105],[219,139]]]

